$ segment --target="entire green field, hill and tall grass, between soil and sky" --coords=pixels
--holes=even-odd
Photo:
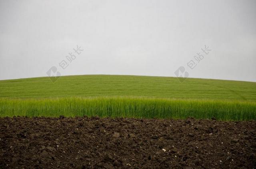
[[[0,81],[0,116],[256,120],[256,83],[82,75]]]

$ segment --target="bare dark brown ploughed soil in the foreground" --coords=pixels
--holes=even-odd
[[[256,122],[0,118],[0,168],[256,168]]]

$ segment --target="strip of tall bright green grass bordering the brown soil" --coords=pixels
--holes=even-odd
[[[0,99],[1,117],[60,115],[256,120],[256,102],[129,97]]]

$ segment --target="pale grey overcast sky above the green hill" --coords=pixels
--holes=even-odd
[[[0,0],[0,80],[146,75],[256,82],[255,0]]]

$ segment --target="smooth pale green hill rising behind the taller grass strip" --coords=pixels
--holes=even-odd
[[[176,99],[218,99],[256,101],[256,83],[212,79],[123,75],[82,75],[0,81],[0,97],[56,98],[92,96],[144,96]]]

